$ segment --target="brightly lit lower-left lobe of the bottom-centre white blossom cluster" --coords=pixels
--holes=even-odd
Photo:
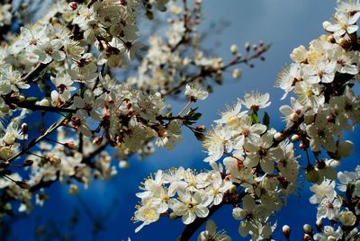
[[[155,178],[148,177],[136,195],[141,199],[134,221],[145,225],[157,221],[160,215],[170,213],[190,224],[196,217],[205,218],[211,205],[219,205],[225,193],[232,188],[229,180],[223,180],[219,171],[196,173],[191,169],[158,170]]]

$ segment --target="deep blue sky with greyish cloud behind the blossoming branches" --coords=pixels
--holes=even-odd
[[[229,59],[229,46],[238,44],[242,49],[246,41],[264,40],[266,43],[273,43],[273,46],[266,54],[265,62],[257,62],[254,69],[243,67],[243,77],[240,81],[234,81],[230,75],[227,75],[225,85],[216,86],[214,93],[205,102],[198,103],[203,113],[200,122],[210,127],[211,121],[218,118],[217,112],[223,108],[224,103],[242,98],[245,92],[258,90],[271,94],[273,104],[267,111],[272,117],[272,125],[282,129],[284,124],[280,121],[278,108],[288,103],[288,100],[280,101],[283,93],[273,87],[276,76],[291,62],[289,54],[293,48],[301,44],[307,46],[312,39],[323,33],[322,22],[335,13],[335,1],[203,0],[202,2],[203,29],[207,29],[210,22],[220,20],[230,22],[220,35],[211,35],[211,38],[205,42],[205,47],[217,55]],[[174,108],[181,109],[178,105]],[[349,136],[358,136],[358,131]],[[359,144],[355,145],[355,149],[359,149]],[[358,156],[357,151],[341,168],[354,167],[358,163]],[[202,162],[203,157],[201,143],[184,129],[184,140],[175,150],[171,152],[157,150],[155,155],[144,161],[132,159],[130,168],[120,170],[112,181],[94,182],[91,189],[82,190],[81,200],[86,203],[94,217],[103,216],[112,206],[113,201],[117,204],[111,209],[111,215],[103,220],[105,229],[99,233],[97,240],[121,240],[127,237],[131,237],[132,240],[175,240],[184,229],[181,220],[160,219],[159,222],[143,228],[139,234],[134,234],[138,224],[132,224],[130,218],[134,206],[139,201],[135,197],[135,193],[138,192],[137,187],[144,177],[156,172],[157,169],[179,165],[205,168],[207,165]],[[279,230],[284,224],[290,225],[293,228],[293,240],[301,239],[302,225],[305,222],[315,220],[316,207],[311,206],[307,201],[310,197],[308,186],[305,185],[302,189],[304,191],[302,196],[293,197],[289,201],[289,206],[278,215]],[[80,221],[75,232],[77,240],[92,240],[92,222],[85,209],[81,207],[83,204],[79,198],[69,196],[67,188],[61,188],[60,184],[52,186],[49,194],[49,201],[43,208],[37,208],[30,218],[14,224],[16,230],[21,230],[15,234],[17,240],[33,240],[36,225],[47,224],[49,219],[58,223],[60,230],[66,229],[68,217],[74,213],[74,209],[80,211]],[[229,207],[218,211],[213,219],[220,228],[225,228],[229,232],[233,240],[241,240],[237,231],[238,221],[232,219]],[[275,232],[275,239],[283,239],[279,231]]]

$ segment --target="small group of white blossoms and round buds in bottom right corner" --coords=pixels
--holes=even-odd
[[[341,192],[341,193],[338,193]],[[305,231],[305,237],[315,240],[356,240],[359,238],[357,225],[360,216],[360,166],[356,172],[338,172],[338,186],[335,181],[325,179],[311,187],[314,194],[310,198],[312,204],[318,204],[317,233]],[[331,225],[323,227],[322,219],[331,221]],[[309,239],[307,239],[309,240]]]

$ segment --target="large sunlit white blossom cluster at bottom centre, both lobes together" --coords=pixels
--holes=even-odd
[[[181,216],[184,224],[189,225],[195,217],[207,217],[211,205],[229,202],[234,205],[234,219],[240,220],[241,236],[250,233],[253,238],[271,237],[275,227],[270,224],[269,216],[280,210],[286,196],[294,191],[299,165],[293,143],[279,142],[275,129],[269,129],[266,121],[264,124],[258,121],[257,112],[270,104],[268,100],[269,94],[246,94],[244,100],[221,112],[221,118],[215,121],[216,126],[203,143],[209,155],[204,161],[213,171],[195,175],[180,167],[171,172],[171,179],[166,179],[165,174],[165,182],[159,181],[162,172],[155,181],[149,179],[144,184],[147,191],[137,194],[141,205],[135,212],[135,220],[147,225],[157,221],[169,207],[170,217]],[[248,111],[241,112],[241,105]],[[222,161],[224,166],[217,165],[215,162],[222,156],[226,156]],[[168,183],[168,189],[164,190],[164,183]],[[161,192],[158,185],[162,186]],[[228,193],[225,200],[224,192]],[[161,198],[159,193],[167,193],[167,198]],[[173,198],[175,193],[177,199]],[[159,208],[160,200],[166,203],[166,210]],[[156,216],[151,219],[144,214],[149,206]]]

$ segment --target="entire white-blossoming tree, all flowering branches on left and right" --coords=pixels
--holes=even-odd
[[[238,78],[235,66],[265,60],[270,46],[247,43],[241,54],[234,45],[229,61],[213,57],[202,48],[200,0],[56,1],[37,19],[31,6],[5,2],[0,5],[2,216],[42,205],[52,183],[65,183],[76,194],[80,183],[89,187],[94,179],[109,179],[117,173],[113,159],[124,168],[130,156],[172,149],[182,129],[189,129],[202,141],[210,170],[178,167],[150,175],[137,193],[133,221],[141,224],[135,232],[168,216],[186,225],[179,240],[193,237],[205,222],[198,240],[230,240],[209,218],[231,205],[241,237],[271,240],[275,214],[305,173],[318,212],[316,230],[305,224],[303,240],[360,238],[360,167],[337,171],[353,150],[344,131],[360,120],[358,1],[338,2],[334,19],[323,22],[326,34],[309,48],[293,50],[293,63],[275,84],[283,99],[290,99],[280,109],[284,129],[272,128],[264,111],[270,95],[254,91],[220,112],[208,132],[193,105],[222,84],[227,70]],[[144,14],[149,22],[169,17],[166,34],[139,39]],[[176,112],[167,104],[171,99],[187,103]],[[290,240],[288,226],[283,233]]]

